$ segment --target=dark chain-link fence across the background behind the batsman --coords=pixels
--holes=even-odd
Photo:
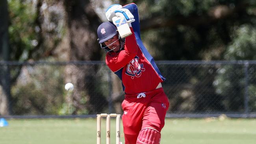
[[[156,63],[166,78],[167,116],[256,112],[256,61]],[[4,107],[10,115],[122,114],[121,81],[102,61],[0,62],[0,78],[2,114]]]

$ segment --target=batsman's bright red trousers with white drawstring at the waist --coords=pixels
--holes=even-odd
[[[154,128],[161,132],[169,100],[163,88],[141,94],[126,94],[122,102],[122,122],[125,144],[136,144],[141,129]]]

